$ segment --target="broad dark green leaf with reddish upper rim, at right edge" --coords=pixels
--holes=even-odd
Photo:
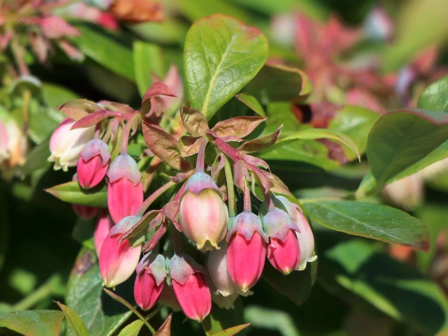
[[[447,140],[447,113],[398,110],[383,115],[370,130],[366,147],[377,184],[384,185]]]

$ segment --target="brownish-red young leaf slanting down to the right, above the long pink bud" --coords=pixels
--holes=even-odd
[[[181,158],[179,142],[162,129],[142,122],[146,146],[170,167],[186,171],[191,169],[190,162]]]

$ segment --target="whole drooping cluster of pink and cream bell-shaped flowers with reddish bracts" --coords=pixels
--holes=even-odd
[[[232,308],[238,296],[252,294],[266,259],[284,275],[303,270],[316,258],[314,238],[287,187],[249,154],[273,145],[281,127],[245,141],[264,117],[239,116],[209,128],[201,112],[181,107],[181,127],[169,134],[159,125],[160,111],[175,110],[176,97],[156,82],[141,111],[105,101],[66,103],[60,110],[74,119],[55,130],[49,160],[55,169],[76,166],[74,179],[84,190],[107,182],[108,210],[100,212],[94,233],[103,284],[114,288],[135,272],[134,298],[142,310],[160,301],[202,321],[212,301]],[[137,164],[127,148],[140,122],[149,150]],[[149,168],[141,164],[146,158]],[[147,180],[162,163],[176,173],[144,199]],[[168,194],[161,208],[148,211]],[[86,204],[73,208],[85,219],[99,212]]]

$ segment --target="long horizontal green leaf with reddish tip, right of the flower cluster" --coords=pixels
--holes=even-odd
[[[302,200],[301,204],[312,220],[332,230],[418,250],[429,248],[426,227],[404,211],[354,201]]]

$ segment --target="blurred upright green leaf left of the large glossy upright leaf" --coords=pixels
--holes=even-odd
[[[135,41],[133,44],[135,82],[143,97],[152,84],[152,76],[163,78],[165,71],[162,49],[152,43]]]

